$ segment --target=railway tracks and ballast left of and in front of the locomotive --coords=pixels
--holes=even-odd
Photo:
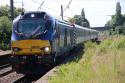
[[[4,53],[0,54],[0,83],[32,83],[42,77],[46,72],[48,72],[51,68],[42,70],[40,75],[23,75],[17,74],[12,70],[9,62],[10,54]]]

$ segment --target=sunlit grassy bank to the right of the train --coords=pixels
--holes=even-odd
[[[84,50],[61,65],[49,83],[125,83],[125,36],[106,39],[100,45],[87,42]]]

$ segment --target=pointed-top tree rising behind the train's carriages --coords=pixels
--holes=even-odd
[[[90,27],[89,21],[85,18],[84,9],[82,9],[81,15],[75,15],[73,18],[69,19],[69,21],[83,27]]]

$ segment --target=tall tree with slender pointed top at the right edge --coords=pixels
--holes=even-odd
[[[105,24],[105,27],[109,28],[109,32],[111,35],[125,34],[124,23],[125,16],[121,15],[121,6],[120,3],[117,2],[116,14],[112,15],[111,20]]]

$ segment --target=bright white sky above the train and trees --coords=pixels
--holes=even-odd
[[[44,1],[39,11],[47,11],[53,16],[60,17],[61,5],[66,8],[71,0],[14,0],[14,6],[23,7],[27,11],[36,11]],[[71,4],[64,11],[64,19],[80,15],[84,8],[85,16],[90,22],[91,27],[102,27],[111,15],[115,14],[116,3],[120,2],[122,14],[125,14],[125,0],[72,0]],[[10,4],[10,0],[0,0],[0,5]]]

